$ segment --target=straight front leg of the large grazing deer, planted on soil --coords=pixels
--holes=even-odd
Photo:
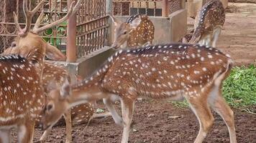
[[[124,120],[124,129],[121,143],[128,143],[129,129],[132,124],[132,116],[134,112],[134,100],[121,100],[122,104],[122,117]]]

